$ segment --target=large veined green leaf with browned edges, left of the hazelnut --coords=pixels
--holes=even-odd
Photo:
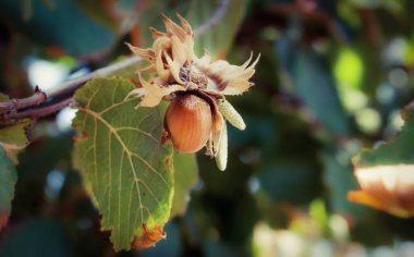
[[[74,164],[111,231],[115,250],[130,249],[134,236],[168,221],[173,194],[172,147],[161,146],[156,108],[135,110],[126,95],[134,85],[97,78],[75,93]]]

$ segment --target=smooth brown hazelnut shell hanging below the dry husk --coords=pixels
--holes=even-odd
[[[169,105],[165,126],[174,148],[182,152],[196,152],[210,137],[211,107],[207,100],[192,93],[178,94]]]

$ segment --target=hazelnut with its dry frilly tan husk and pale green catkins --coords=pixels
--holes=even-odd
[[[131,51],[150,64],[138,71],[142,87],[131,91],[142,101],[137,107],[156,107],[162,99],[171,100],[165,117],[163,139],[171,139],[182,152],[196,152],[206,146],[206,154],[216,157],[220,170],[227,166],[226,121],[240,130],[245,124],[224,96],[240,95],[253,83],[255,61],[251,58],[241,66],[224,60],[211,62],[206,51],[202,58],[194,53],[194,32],[187,21],[178,15],[181,26],[163,16],[167,32],[150,27],[151,48]],[[150,81],[142,73],[154,74]]]

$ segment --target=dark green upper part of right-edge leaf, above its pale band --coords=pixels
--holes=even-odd
[[[411,111],[411,117],[414,111]],[[414,121],[405,119],[401,133],[387,144],[375,149],[363,149],[353,158],[355,167],[373,167],[387,164],[414,164]]]

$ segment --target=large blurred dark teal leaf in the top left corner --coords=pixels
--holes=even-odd
[[[21,1],[4,0],[0,1],[0,15],[34,42],[60,47],[68,54],[102,52],[119,38],[117,32],[87,16],[74,1],[56,0],[52,3],[33,4],[31,15],[24,17]]]

